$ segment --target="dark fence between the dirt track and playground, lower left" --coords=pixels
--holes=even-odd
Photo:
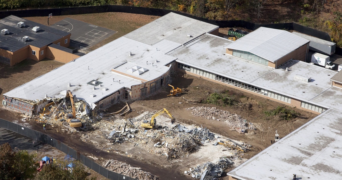
[[[42,132],[32,130],[30,128],[27,128],[25,126],[21,126],[19,124],[15,124],[13,122],[4,120],[0,118],[0,127],[8,129],[10,131],[22,134],[24,136],[30,137],[32,139],[37,139],[40,142],[43,142],[45,144],[49,144],[58,150],[62,151],[65,154],[69,154],[70,156],[73,156],[74,159],[80,161],[87,167],[91,168],[95,172],[99,173],[100,175],[108,178],[108,179],[114,179],[114,180],[136,180],[134,178],[130,178],[128,176],[123,176],[118,173],[115,173],[113,171],[107,170],[106,168],[100,166],[99,164],[95,163],[93,160],[89,159],[88,157],[80,154],[73,148],[69,147],[68,145],[62,143],[61,141],[55,140],[53,137],[44,134]]]

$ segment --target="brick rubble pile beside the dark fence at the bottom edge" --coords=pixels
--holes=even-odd
[[[110,159],[105,161],[102,164],[105,168],[110,171],[119,173],[124,176],[129,176],[131,178],[135,178],[138,180],[157,180],[158,177],[151,174],[150,172],[146,172],[141,170],[141,168],[132,167],[129,164],[122,163],[117,160]]]

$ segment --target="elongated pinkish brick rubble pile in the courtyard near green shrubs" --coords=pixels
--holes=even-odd
[[[213,119],[216,121],[225,121],[231,127],[239,127],[241,129],[255,129],[253,123],[248,123],[246,119],[241,118],[237,114],[217,109],[216,107],[191,107],[186,110],[192,110],[192,115]]]

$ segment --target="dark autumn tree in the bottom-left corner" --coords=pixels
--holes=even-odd
[[[9,143],[0,145],[0,180],[32,179],[39,163],[36,154],[27,151],[12,151]]]

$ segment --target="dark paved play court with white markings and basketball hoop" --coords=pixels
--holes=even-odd
[[[100,43],[107,37],[117,33],[116,31],[71,19],[69,17],[51,26],[71,33],[70,46],[78,49],[88,49],[97,43]]]

